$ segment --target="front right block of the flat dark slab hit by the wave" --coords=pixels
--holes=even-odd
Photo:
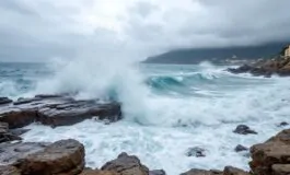
[[[97,117],[109,122],[121,119],[118,103],[97,104],[94,101],[76,101],[54,106],[46,106],[38,110],[38,120],[44,125],[68,126],[84,119]]]

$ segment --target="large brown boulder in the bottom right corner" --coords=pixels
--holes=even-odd
[[[255,175],[290,174],[290,129],[251,148],[250,163]]]

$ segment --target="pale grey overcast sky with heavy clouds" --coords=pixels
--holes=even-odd
[[[289,0],[0,0],[0,60],[290,39]]]

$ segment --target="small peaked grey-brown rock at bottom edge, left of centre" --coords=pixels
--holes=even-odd
[[[140,160],[135,155],[121,153],[116,160],[107,162],[101,168],[102,171],[113,171],[120,175],[148,175],[149,170],[142,165]]]

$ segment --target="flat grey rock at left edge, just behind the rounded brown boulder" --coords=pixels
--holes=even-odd
[[[28,154],[44,150],[49,143],[18,142],[0,144],[0,164],[13,165]]]

